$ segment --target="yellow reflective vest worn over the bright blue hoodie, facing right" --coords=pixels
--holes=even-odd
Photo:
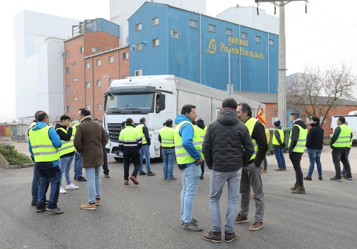
[[[187,152],[187,150],[183,147],[182,145],[182,137],[178,133],[180,131],[180,128],[183,126],[183,124],[190,124],[193,128],[193,145],[195,148],[198,150],[198,152],[202,152],[202,149],[199,149],[199,146],[201,145],[201,141],[197,141],[197,134],[195,136],[195,127],[190,121],[182,121],[181,123],[177,124],[175,128],[175,133],[174,133],[174,138],[175,138],[175,153],[176,153],[176,161],[177,164],[186,164],[186,163],[193,163],[196,161],[196,159],[192,158],[190,153]]]

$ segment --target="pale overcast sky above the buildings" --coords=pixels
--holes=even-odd
[[[128,0],[129,1],[129,0]],[[160,2],[159,0],[155,0]],[[144,2],[144,1],[143,1]],[[216,16],[228,7],[256,6],[254,0],[207,0],[206,14]],[[138,6],[139,8],[140,6]],[[270,3],[260,4],[268,14],[274,14]],[[14,15],[31,10],[79,20],[103,17],[110,20],[109,0],[94,1],[4,1],[0,20],[2,47],[0,70],[0,122],[15,118]],[[310,0],[305,14],[305,2],[286,5],[287,75],[310,66],[340,67],[345,62],[357,74],[357,1]],[[277,8],[278,16],[279,10]],[[259,101],[259,100],[258,100]]]

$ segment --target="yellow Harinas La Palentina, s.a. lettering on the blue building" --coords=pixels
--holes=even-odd
[[[244,56],[250,56],[253,58],[264,59],[262,53],[248,51],[247,49],[242,47],[242,46],[248,47],[248,40],[228,36],[228,43],[232,43],[232,45],[233,44],[240,45],[239,48],[233,48],[231,46],[232,54],[240,54],[240,55],[244,55]],[[228,53],[228,49],[229,49],[228,46],[226,46],[224,42],[220,42],[220,51],[221,52]],[[208,50],[206,52],[210,53],[210,54],[214,54],[216,51],[217,51],[216,40],[215,40],[215,38],[212,38],[210,41],[210,44],[208,44]]]

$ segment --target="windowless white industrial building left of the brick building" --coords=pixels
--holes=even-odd
[[[22,10],[14,17],[16,119],[32,122],[36,110],[51,121],[64,113],[64,38],[80,20]]]

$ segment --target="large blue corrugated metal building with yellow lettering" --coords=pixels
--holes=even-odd
[[[213,88],[278,90],[278,35],[167,4],[145,2],[129,18],[130,76],[174,74]]]

